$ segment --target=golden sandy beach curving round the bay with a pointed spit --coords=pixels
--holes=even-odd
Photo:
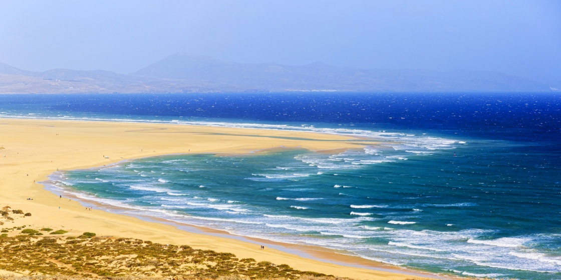
[[[62,228],[70,234],[90,231],[99,236],[134,237],[163,244],[186,244],[194,248],[233,253],[238,258],[267,260],[275,264],[288,264],[296,269],[356,279],[416,277],[413,272],[403,270],[403,273],[398,273],[397,268],[327,250],[310,248],[307,252],[314,258],[304,258],[288,253],[295,246],[287,246],[284,251],[272,248],[260,250],[260,246],[255,243],[224,237],[219,232],[189,232],[171,223],[146,221],[100,211],[95,207],[93,211],[85,211],[76,200],[59,198],[37,183],[47,180],[47,176],[56,170],[83,169],[174,153],[250,153],[297,147],[321,151],[360,147],[364,144],[375,143],[330,134],[279,130],[0,119],[0,207],[10,206],[32,213],[32,216],[20,218],[13,223],[5,221],[0,227],[52,227]],[[283,246],[272,242],[270,244]],[[318,259],[330,259],[339,264]],[[349,263],[369,268],[344,265]],[[389,269],[396,272],[388,271]],[[417,277],[420,275],[417,274]]]

